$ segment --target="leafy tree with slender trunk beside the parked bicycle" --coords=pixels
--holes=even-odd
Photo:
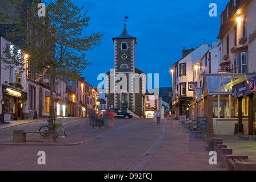
[[[78,7],[70,0],[50,0],[44,3],[45,7],[38,0],[5,1],[0,3],[0,31],[18,48],[6,46],[0,58],[10,67],[27,71],[29,79],[49,75],[53,129],[54,78],[77,79],[90,64],[85,52],[101,44],[103,34],[83,34],[90,17],[83,6]]]

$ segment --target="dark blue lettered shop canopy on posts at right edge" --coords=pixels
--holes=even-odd
[[[242,133],[242,105],[244,98],[249,98],[248,108],[248,135],[253,138],[253,122],[256,120],[256,76],[249,77],[233,86],[232,97],[238,98],[238,133]]]

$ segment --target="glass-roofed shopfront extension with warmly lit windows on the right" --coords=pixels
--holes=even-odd
[[[208,131],[217,135],[233,135],[235,124],[238,123],[238,101],[233,98],[232,88],[256,73],[223,73],[203,75],[202,98],[199,89],[194,89],[195,113],[197,116],[208,117]],[[199,93],[199,94],[198,94]],[[243,125],[248,123],[247,99],[241,101]],[[242,113],[242,112],[241,112]],[[241,121],[242,121],[241,117]],[[245,133],[247,134],[247,130]]]

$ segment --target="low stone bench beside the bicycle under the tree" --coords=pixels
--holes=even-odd
[[[55,142],[56,133],[55,130],[47,130],[47,131],[24,131],[24,130],[14,130],[13,131],[13,142],[26,142],[26,134],[27,133],[43,133],[43,140],[49,142]]]

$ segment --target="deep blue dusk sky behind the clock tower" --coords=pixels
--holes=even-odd
[[[182,49],[197,48],[217,41],[220,15],[229,1],[199,0],[76,0],[85,6],[90,16],[85,34],[103,32],[102,44],[86,52],[91,64],[83,71],[85,80],[97,87],[99,73],[114,68],[112,38],[123,31],[125,15],[129,16],[126,30],[137,38],[135,67],[149,73],[159,73],[159,87],[171,87],[170,68],[182,58]],[[211,17],[210,3],[217,5],[217,16]],[[154,88],[154,85],[153,85]]]

